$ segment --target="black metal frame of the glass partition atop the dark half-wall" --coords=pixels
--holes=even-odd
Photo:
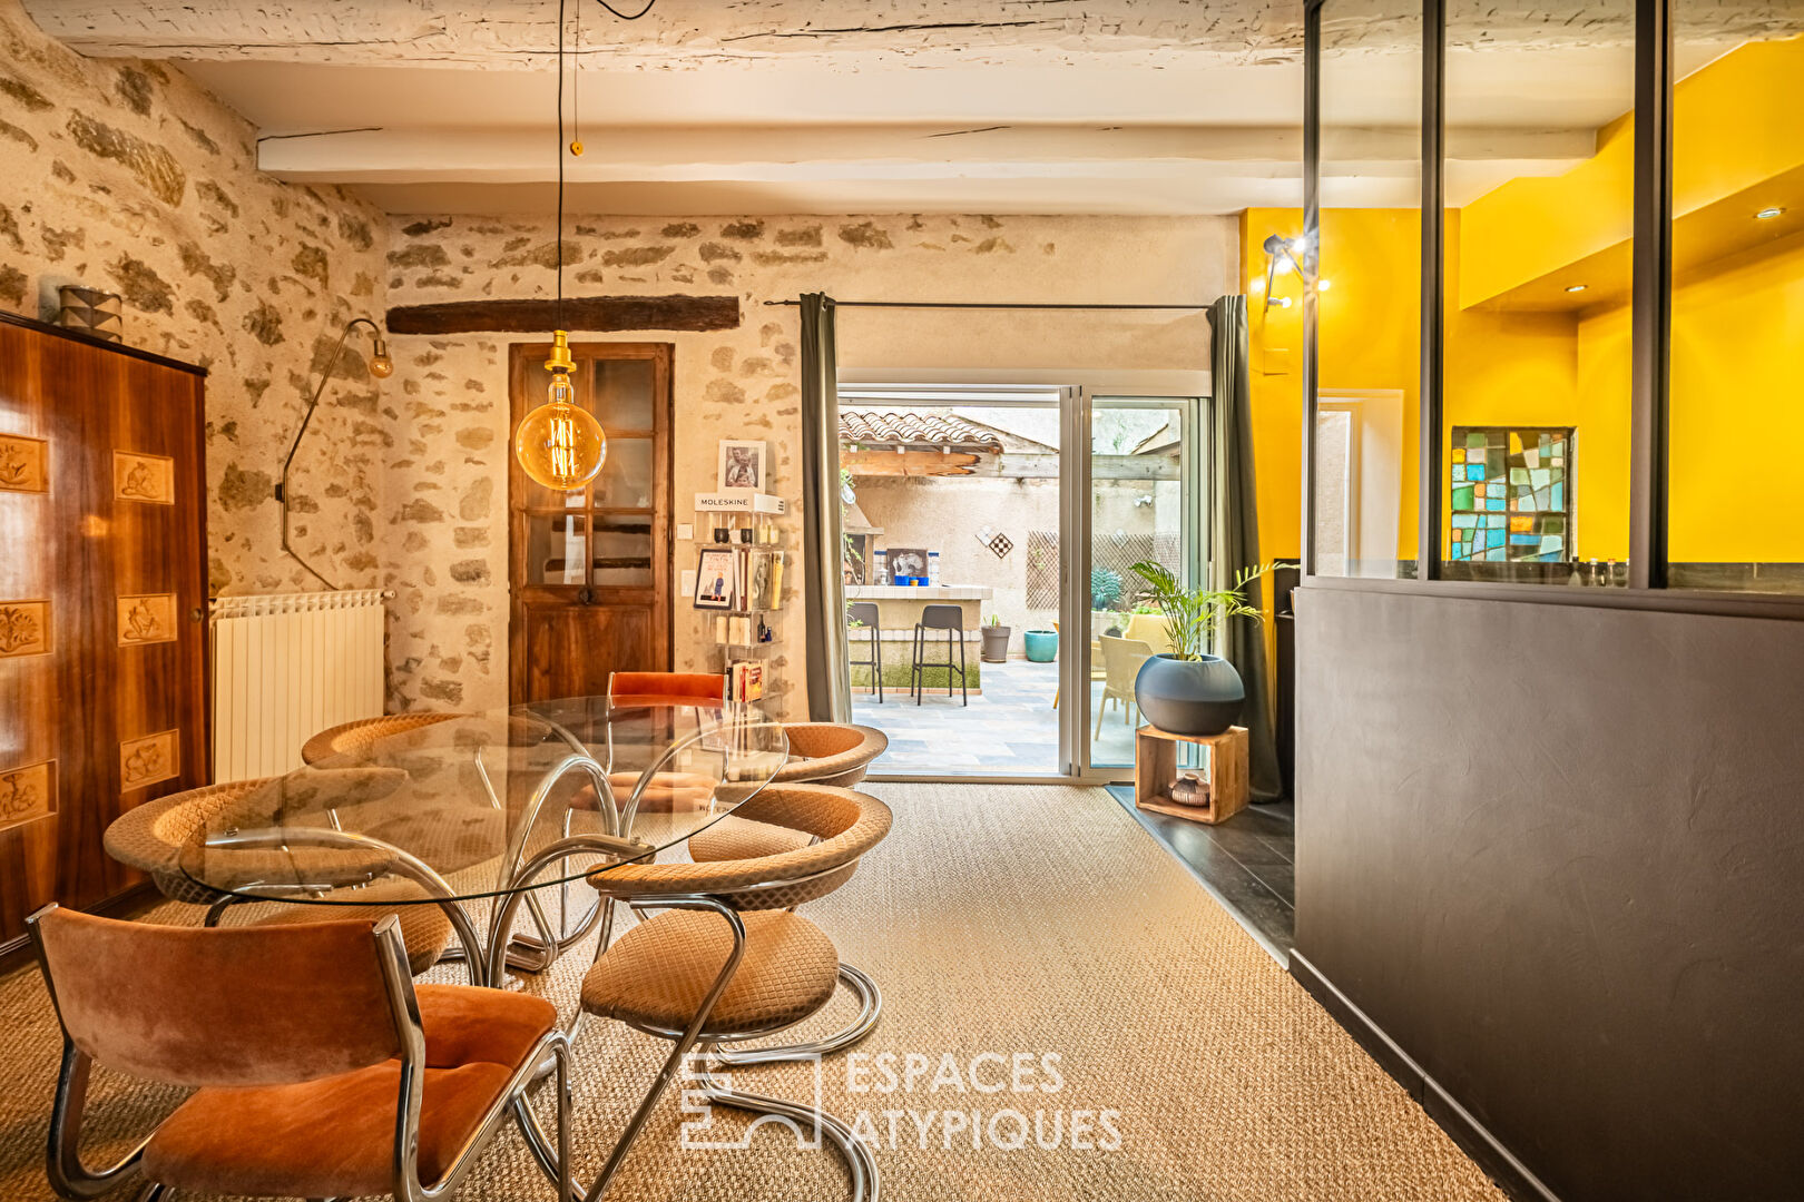
[[[1322,7],[1302,23],[1304,234],[1321,263]],[[1302,587],[1429,593],[1595,609],[1804,620],[1804,596],[1669,587],[1669,436],[1672,344],[1672,2],[1634,5],[1634,279],[1631,290],[1629,586],[1441,578],[1441,416],[1445,387],[1445,108],[1447,4],[1422,0],[1422,433],[1418,443],[1416,578],[1322,577],[1315,571],[1315,414],[1321,384],[1315,290],[1302,297]]]

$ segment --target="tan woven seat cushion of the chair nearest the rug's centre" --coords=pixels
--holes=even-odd
[[[583,1009],[651,1031],[682,1031],[732,952],[718,914],[669,910],[608,948],[583,979]],[[778,1031],[833,997],[839,953],[808,919],[787,910],[745,915],[745,955],[702,1027],[702,1038]]]

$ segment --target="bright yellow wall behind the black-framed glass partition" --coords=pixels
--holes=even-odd
[[[1804,205],[1793,204],[1804,123],[1784,99],[1804,77],[1804,40],[1743,47],[1678,87],[1672,297],[1674,560],[1804,562],[1795,447],[1804,445]],[[1519,178],[1447,214],[1447,425],[1573,425],[1578,559],[1629,551],[1629,142],[1618,119],[1598,155],[1551,178]],[[1759,204],[1750,200],[1761,198]],[[1786,204],[1781,222],[1753,209]],[[1261,541],[1301,544],[1301,279],[1263,308],[1268,234],[1301,231],[1295,209],[1248,209],[1243,287],[1252,308],[1252,400]],[[1416,553],[1418,220],[1413,209],[1322,213],[1321,389],[1404,395],[1405,470],[1394,481],[1400,559]],[[1550,308],[1566,276],[1591,283]],[[1577,278],[1575,278],[1577,279]],[[1557,287],[1555,287],[1557,285]],[[1515,308],[1512,308],[1512,305]],[[1288,371],[1266,353],[1288,348]],[[1445,433],[1441,434],[1445,440]],[[1445,442],[1443,442],[1445,445]],[[1441,481],[1447,488],[1445,479]],[[1443,496],[1445,499],[1445,496]]]

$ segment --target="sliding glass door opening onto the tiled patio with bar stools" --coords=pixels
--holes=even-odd
[[[1165,649],[1137,562],[1203,578],[1194,396],[842,380],[853,721],[884,777],[1126,779]],[[951,663],[951,667],[947,667]]]

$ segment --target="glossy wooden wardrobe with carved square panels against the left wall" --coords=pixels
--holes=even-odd
[[[0,312],[0,953],[207,780],[206,371]]]

